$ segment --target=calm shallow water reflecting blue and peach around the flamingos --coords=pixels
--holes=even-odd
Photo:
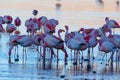
[[[70,26],[70,31],[78,30],[81,27],[99,28],[105,23],[106,16],[120,23],[120,6],[116,4],[116,0],[103,1],[104,4],[98,0],[62,0],[61,7],[56,7],[55,0],[0,0],[0,15],[9,14],[14,19],[19,16],[22,20],[19,27],[21,34],[27,34],[24,21],[29,17],[34,17],[33,9],[38,9],[37,17],[44,15],[48,18],[58,19],[57,30],[64,29],[64,25]],[[119,34],[120,30],[116,29],[116,33]],[[64,33],[62,37],[64,38]],[[19,46],[20,61],[14,62],[13,49],[13,64],[8,64],[8,41],[9,35],[1,33],[0,80],[119,80],[120,64],[114,61],[113,64],[105,66],[105,60],[101,64],[103,54],[97,50],[97,47],[94,50],[96,59],[94,62],[91,60],[91,69],[89,70],[87,61],[84,61],[83,65],[78,62],[76,66],[73,65],[71,57],[68,59],[68,64],[65,65],[62,52],[59,52],[59,63],[56,58],[49,59],[49,56],[45,61],[42,59],[38,61],[35,48],[27,48],[27,60],[23,62],[21,46]],[[67,51],[70,56],[70,50],[67,49]],[[49,53],[47,54],[49,55]],[[86,55],[87,51],[84,52],[85,58]]]

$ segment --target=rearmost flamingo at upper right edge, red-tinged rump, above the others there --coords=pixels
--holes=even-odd
[[[106,17],[105,21],[108,28],[113,28],[113,33],[114,33],[114,28],[120,28],[120,25],[118,24],[118,22],[115,20],[109,19],[109,17]]]

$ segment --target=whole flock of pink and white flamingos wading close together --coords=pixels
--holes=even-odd
[[[9,50],[8,50],[8,62],[11,63],[11,55],[13,48],[16,49],[16,61],[19,61],[18,45],[23,47],[23,59],[26,59],[26,47],[37,46],[38,57],[46,59],[46,53],[49,51],[51,58],[57,57],[59,60],[59,50],[64,54],[64,60],[67,62],[70,57],[66,48],[74,51],[74,59],[77,63],[78,55],[81,55],[81,59],[84,59],[83,51],[87,50],[87,58],[90,61],[95,59],[94,48],[98,45],[98,50],[104,52],[105,55],[111,53],[109,61],[113,61],[113,56],[116,54],[116,59],[120,59],[120,35],[115,34],[114,28],[120,28],[117,21],[105,18],[105,24],[98,28],[80,28],[77,31],[69,32],[69,26],[65,25],[65,29],[59,29],[56,36],[56,27],[59,21],[56,19],[48,19],[46,16],[36,17],[37,10],[33,10],[32,14],[34,18],[29,18],[25,21],[26,32],[28,35],[21,35],[19,26],[21,25],[21,19],[17,17],[13,22],[13,18],[10,15],[0,16],[0,32],[7,32],[10,34],[9,38]],[[6,24],[6,29],[3,25]],[[64,32],[64,39],[61,37],[61,33]],[[12,34],[14,33],[14,34]],[[33,46],[33,47],[34,47]],[[57,54],[55,50],[57,50]],[[73,53],[72,53],[73,54]],[[72,57],[72,55],[71,55]],[[103,56],[104,58],[104,56]]]

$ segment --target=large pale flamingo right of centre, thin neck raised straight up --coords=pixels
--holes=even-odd
[[[68,26],[65,26],[65,29],[66,29],[66,34],[65,34],[66,46],[69,49],[75,51],[74,55],[76,55],[76,63],[77,63],[79,50],[84,45],[86,45],[86,41],[84,40],[84,37],[81,33],[79,33],[79,32],[68,33],[68,29],[69,29]]]

